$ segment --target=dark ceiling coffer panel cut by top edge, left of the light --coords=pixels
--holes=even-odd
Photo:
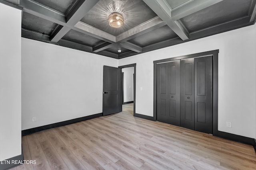
[[[76,3],[78,0],[34,0],[44,6],[47,6],[55,11],[62,14],[66,14],[68,10]]]

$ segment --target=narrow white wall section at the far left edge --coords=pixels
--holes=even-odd
[[[21,154],[21,11],[0,3],[0,160]]]

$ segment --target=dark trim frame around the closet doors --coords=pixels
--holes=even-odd
[[[213,51],[206,51],[202,53],[196,53],[196,54],[190,54],[190,55],[184,55],[179,57],[173,57],[169,59],[162,59],[154,61],[154,114],[153,114],[153,120],[156,121],[156,65],[158,63],[165,63],[170,61],[176,61],[176,60],[182,60],[182,59],[189,59],[189,58],[196,58],[196,57],[206,57],[206,56],[212,56],[212,74],[213,74],[213,86],[212,86],[212,135],[214,136],[220,136],[222,137],[229,134],[226,132],[218,131],[218,53],[219,50],[213,50]],[[233,135],[233,134],[231,134]]]

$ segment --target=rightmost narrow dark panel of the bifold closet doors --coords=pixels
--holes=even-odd
[[[212,56],[194,59],[195,130],[212,134]]]

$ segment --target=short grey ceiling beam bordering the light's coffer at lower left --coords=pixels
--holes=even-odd
[[[111,35],[109,33],[101,31],[100,29],[92,27],[92,26],[90,26],[86,23],[83,23],[81,21],[76,23],[76,25],[74,27],[72,27],[72,29],[74,29],[78,32],[84,33],[86,35],[90,35],[94,38],[98,38],[98,39],[101,39],[103,41],[107,41],[109,43],[115,43],[116,42],[116,37],[114,35]]]

